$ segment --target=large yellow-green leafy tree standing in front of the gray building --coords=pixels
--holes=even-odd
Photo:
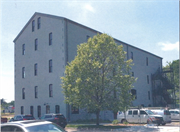
[[[131,66],[123,46],[112,37],[97,34],[89,38],[77,47],[77,56],[61,78],[66,103],[95,113],[99,125],[100,111],[118,110],[131,103],[129,91],[135,81],[128,74]]]

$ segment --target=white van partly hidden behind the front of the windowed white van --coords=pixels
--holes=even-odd
[[[161,115],[163,117],[162,125],[166,125],[166,123],[171,123],[171,114],[167,109],[151,109],[151,111],[155,115]]]

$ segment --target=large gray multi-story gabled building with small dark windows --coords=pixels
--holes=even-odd
[[[14,39],[15,44],[15,114],[62,113],[75,120],[89,114],[64,103],[60,77],[67,62],[76,56],[77,45],[100,33],[69,19],[35,13]],[[162,58],[115,39],[123,45],[127,59],[132,59],[134,106],[153,106],[151,75],[162,69]],[[91,116],[92,118],[93,116]],[[113,118],[109,111],[101,118]]]

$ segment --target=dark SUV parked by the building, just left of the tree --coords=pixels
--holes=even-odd
[[[65,128],[67,125],[67,121],[66,118],[64,117],[63,114],[45,114],[44,116],[42,116],[40,118],[40,120],[46,120],[46,121],[51,121],[54,122],[58,125],[60,125],[61,127]]]

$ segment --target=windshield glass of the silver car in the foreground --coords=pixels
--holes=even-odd
[[[28,132],[65,132],[63,128],[52,123],[26,127]]]

